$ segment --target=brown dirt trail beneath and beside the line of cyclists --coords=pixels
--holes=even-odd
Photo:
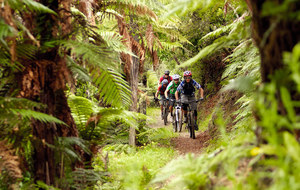
[[[173,130],[171,124],[171,116],[168,116],[168,125],[165,126],[163,120],[160,116],[160,109],[152,108],[151,117],[155,122],[151,123],[149,126],[151,128],[170,128]],[[210,135],[208,131],[196,131],[196,139],[191,139],[190,134],[187,129],[185,129],[186,124],[182,126],[182,132],[178,133],[179,136],[171,139],[171,145],[179,152],[180,155],[185,155],[187,153],[200,154],[203,148],[208,146],[210,140]]]

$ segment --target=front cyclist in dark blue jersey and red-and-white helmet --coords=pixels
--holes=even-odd
[[[178,94],[181,93],[181,103],[184,113],[184,122],[187,122],[187,106],[188,103],[191,101],[195,101],[195,88],[199,89],[200,100],[203,100],[203,89],[201,88],[200,84],[198,84],[194,79],[192,79],[192,72],[191,71],[184,71],[183,73],[184,80],[179,84],[176,92],[175,98],[176,101],[179,100]],[[190,104],[192,110],[194,110],[195,116],[195,130],[198,130],[197,125],[197,103],[193,102]]]

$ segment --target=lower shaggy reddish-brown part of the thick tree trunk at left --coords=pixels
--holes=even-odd
[[[55,184],[55,177],[60,176],[59,166],[55,162],[54,150],[47,144],[54,144],[57,137],[78,137],[75,122],[64,93],[66,71],[65,62],[58,58],[53,62],[48,60],[24,64],[20,73],[20,95],[33,101],[41,102],[47,107],[44,113],[57,117],[68,126],[54,123],[32,123],[34,142],[34,173],[35,180],[41,180],[47,185]],[[47,144],[46,144],[47,143]],[[60,176],[61,177],[61,176]]]

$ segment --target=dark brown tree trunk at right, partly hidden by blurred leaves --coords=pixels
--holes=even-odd
[[[267,0],[246,0],[249,10],[252,12],[252,37],[259,49],[261,55],[261,76],[264,83],[272,80],[278,70],[284,69],[283,52],[292,51],[293,47],[300,41],[300,21],[292,18],[292,13],[295,14],[299,10],[300,2],[289,2],[288,10],[283,15],[263,15],[263,5],[266,2],[277,3],[274,6],[280,6],[282,0],[267,1]],[[269,9],[274,7],[269,7]],[[266,9],[266,8],[264,8]],[[284,76],[282,76],[284,77]],[[286,87],[293,101],[300,100],[300,94],[293,87],[293,81],[276,79],[277,84]],[[279,91],[279,86],[277,87]],[[278,92],[278,94],[280,94]],[[286,115],[285,107],[281,98],[277,98],[278,113]],[[300,109],[295,109],[296,114],[300,114]],[[259,120],[260,118],[258,118]],[[285,131],[286,129],[280,129]],[[256,135],[258,141],[261,139],[262,129],[257,128]],[[293,131],[297,138],[300,139],[300,131]]]

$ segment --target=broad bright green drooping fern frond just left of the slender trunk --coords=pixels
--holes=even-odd
[[[99,88],[100,97],[107,104],[116,107],[126,107],[131,104],[131,92],[128,82],[124,77],[110,70],[93,70],[91,73],[93,82]]]

